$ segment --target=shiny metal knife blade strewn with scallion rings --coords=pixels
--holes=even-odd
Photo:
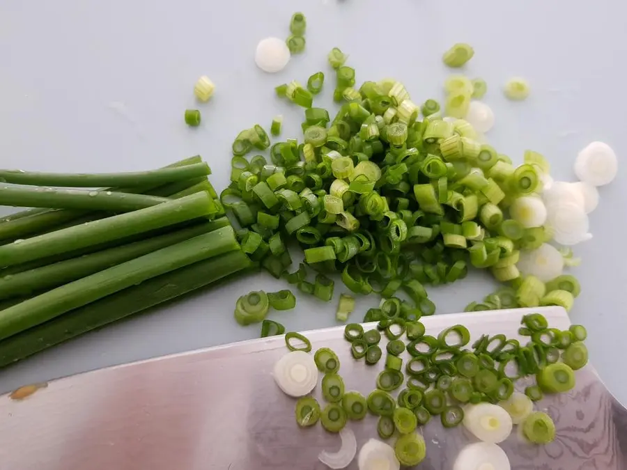
[[[532,311],[539,310],[552,327],[568,327],[561,308]],[[474,337],[514,337],[525,313],[438,315],[424,324],[430,334],[463,323]],[[373,367],[355,361],[343,327],[310,331],[307,337],[314,350],[324,345],[336,351],[347,390],[364,395],[373,390],[383,361]],[[279,391],[271,375],[285,353],[282,336],[250,340],[55,380],[20,390],[22,400],[3,395],[0,469],[323,469],[318,453],[339,448],[339,437],[320,425],[297,427],[295,400]],[[572,393],[536,405],[555,419],[557,439],[532,446],[513,432],[502,444],[512,469],[626,469],[627,412],[592,368],[578,371]],[[349,425],[358,446],[376,437],[373,416]],[[472,441],[462,428],[444,430],[437,419],[421,432],[427,457],[418,468],[424,470],[451,470],[459,449]],[[356,460],[348,468],[356,469]]]

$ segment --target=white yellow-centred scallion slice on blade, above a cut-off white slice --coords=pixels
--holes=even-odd
[[[465,428],[480,441],[498,444],[511,434],[511,416],[498,405],[469,405],[464,413]]]

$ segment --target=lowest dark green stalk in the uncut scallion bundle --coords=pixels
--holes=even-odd
[[[139,285],[132,285],[2,340],[0,367],[249,267],[251,262],[247,256],[236,250],[148,279]]]

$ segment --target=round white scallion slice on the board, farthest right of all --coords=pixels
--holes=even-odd
[[[589,143],[575,159],[575,175],[593,186],[607,185],[617,172],[618,159],[607,143]]]

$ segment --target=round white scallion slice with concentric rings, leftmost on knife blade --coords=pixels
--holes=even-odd
[[[302,397],[314,390],[318,382],[318,367],[311,354],[288,352],[274,364],[274,381],[292,397]]]

